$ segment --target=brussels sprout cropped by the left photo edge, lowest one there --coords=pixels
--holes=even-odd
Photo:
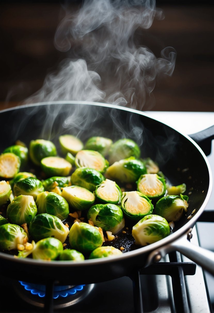
[[[18,244],[26,244],[28,236],[24,229],[16,224],[4,224],[0,226],[0,249],[17,249]]]

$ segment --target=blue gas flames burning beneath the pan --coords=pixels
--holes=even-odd
[[[40,298],[45,297],[45,285],[35,285],[30,283],[25,283],[24,281],[19,281],[19,283],[24,286],[25,290],[31,292],[32,295],[38,295]],[[76,292],[83,290],[85,285],[77,285],[69,288],[69,286],[54,286],[53,299],[58,297],[66,298],[70,295],[74,295]]]

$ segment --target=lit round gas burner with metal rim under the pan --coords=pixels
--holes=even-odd
[[[61,309],[76,304],[88,296],[93,288],[94,284],[54,286],[53,308]],[[44,307],[45,285],[18,281],[14,283],[14,289],[25,302],[37,307]]]

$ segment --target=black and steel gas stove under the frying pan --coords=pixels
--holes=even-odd
[[[146,114],[188,135],[212,126],[214,121],[214,112],[147,111]],[[214,141],[208,161],[214,175]],[[207,212],[211,212],[213,204],[212,193]],[[214,250],[212,213],[209,220],[206,212],[202,214],[191,239],[193,244],[210,250]],[[23,281],[13,281],[0,272],[2,313],[210,313],[214,307],[214,277],[178,252],[166,255],[132,277],[97,284],[54,286],[52,290],[48,282],[46,286],[28,284],[27,278],[26,273]]]

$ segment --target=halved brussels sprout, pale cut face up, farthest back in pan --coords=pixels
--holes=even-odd
[[[62,154],[66,155],[67,152],[75,155],[78,151],[83,149],[83,142],[73,135],[59,136],[59,143],[61,146]]]

